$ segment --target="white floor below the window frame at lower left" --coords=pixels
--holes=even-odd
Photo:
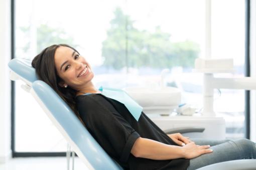
[[[88,169],[85,164],[75,157],[75,170]],[[70,161],[71,163],[71,161]],[[5,164],[0,164],[0,170],[58,170],[67,169],[66,157],[19,157],[9,159]],[[70,165],[70,170],[72,169]]]

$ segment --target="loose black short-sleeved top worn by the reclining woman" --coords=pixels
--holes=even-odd
[[[124,169],[187,169],[189,159],[153,160],[135,157],[138,137],[176,144],[143,111],[137,121],[125,105],[100,93],[76,97],[79,114],[91,135]]]

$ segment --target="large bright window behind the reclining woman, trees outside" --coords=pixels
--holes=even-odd
[[[33,59],[48,45],[68,43],[92,65],[96,87],[154,88],[168,68],[165,84],[181,88],[183,102],[196,100],[193,104],[202,107],[202,76],[191,70],[194,59],[205,53],[205,0],[17,0],[15,31],[15,57]],[[233,57],[236,74],[242,75],[243,1],[212,1],[212,37],[213,57]],[[66,141],[20,85],[16,83],[15,151],[65,151]],[[233,95],[240,104],[234,112],[243,117],[240,91],[221,90],[215,108],[224,116],[234,115],[221,102]],[[232,130],[237,124],[227,119],[230,136],[236,137]]]

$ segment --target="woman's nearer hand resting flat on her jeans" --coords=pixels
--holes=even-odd
[[[209,149],[209,147],[210,145],[197,145],[192,141],[184,145],[182,148],[184,151],[184,157],[186,159],[191,159],[200,156],[201,154],[212,152],[212,149]]]

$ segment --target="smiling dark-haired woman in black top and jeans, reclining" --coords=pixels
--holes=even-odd
[[[95,88],[90,64],[69,45],[45,48],[33,59],[32,66],[125,169],[190,170],[256,157],[255,144],[247,139],[192,141],[180,133],[165,134],[143,111],[137,121],[123,103]]]

